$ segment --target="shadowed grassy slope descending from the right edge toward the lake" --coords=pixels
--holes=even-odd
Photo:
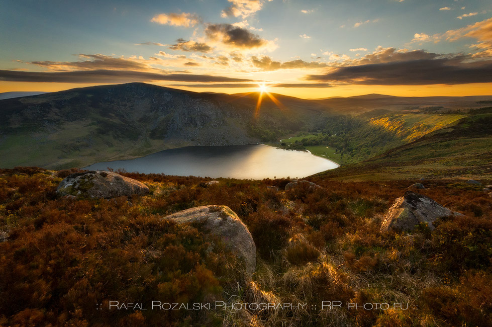
[[[492,114],[462,118],[408,144],[319,178],[393,180],[489,178],[492,176]]]

